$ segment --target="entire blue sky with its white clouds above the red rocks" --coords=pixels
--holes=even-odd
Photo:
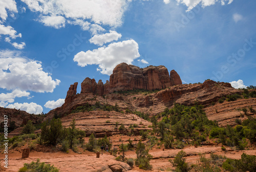
[[[47,113],[126,62],[256,85],[256,1],[0,0],[0,106]]]

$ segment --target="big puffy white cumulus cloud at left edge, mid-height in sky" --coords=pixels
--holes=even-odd
[[[42,71],[39,61],[21,57],[18,51],[0,51],[0,88],[44,93],[53,92],[59,83]]]

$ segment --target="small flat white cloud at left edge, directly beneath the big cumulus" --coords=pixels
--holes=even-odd
[[[12,102],[14,102],[14,99],[16,97],[28,97],[29,95],[30,95],[29,92],[21,91],[19,89],[16,89],[11,93],[6,93],[6,94],[1,93],[0,94],[0,101],[12,103]]]

